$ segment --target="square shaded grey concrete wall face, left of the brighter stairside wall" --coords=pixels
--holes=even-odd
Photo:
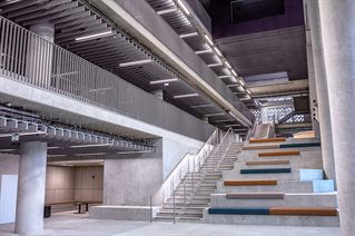
[[[162,184],[162,140],[151,154],[110,155],[105,159],[103,204],[147,206]]]

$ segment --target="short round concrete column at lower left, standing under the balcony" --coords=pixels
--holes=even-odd
[[[14,232],[34,235],[43,230],[47,144],[22,142]]]

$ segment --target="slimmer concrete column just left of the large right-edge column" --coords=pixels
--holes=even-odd
[[[335,164],[331,124],[331,108],[327,88],[327,75],[325,70],[323,41],[319,19],[318,0],[306,2],[308,11],[308,23],[310,27],[313,59],[315,69],[315,81],[318,101],[318,117],[321,125],[322,157],[324,171],[327,178],[335,179]]]

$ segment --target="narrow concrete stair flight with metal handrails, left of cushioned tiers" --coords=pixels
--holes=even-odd
[[[218,150],[206,158],[200,171],[188,173],[175,188],[174,197],[169,197],[155,217],[156,222],[200,222],[205,208],[209,206],[210,195],[215,193],[223,170],[234,168],[240,144],[221,144]]]

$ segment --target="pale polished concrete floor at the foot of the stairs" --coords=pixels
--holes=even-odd
[[[0,236],[12,236],[13,224],[0,225]],[[62,213],[46,219],[43,236],[339,236],[338,227],[276,227],[191,223],[142,223],[89,219]]]

